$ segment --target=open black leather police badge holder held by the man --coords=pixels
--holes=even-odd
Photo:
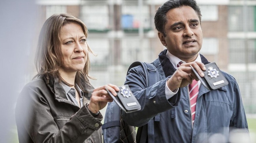
[[[227,79],[224,77],[215,62],[205,65],[206,70],[203,71],[204,77],[201,77],[191,65],[190,67],[197,78],[202,82],[203,86],[209,90],[218,89],[228,85]]]

